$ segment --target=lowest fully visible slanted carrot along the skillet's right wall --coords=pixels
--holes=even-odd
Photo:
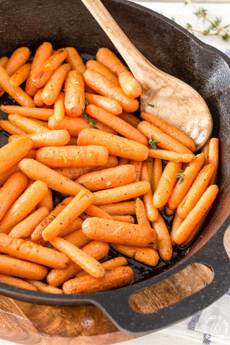
[[[211,206],[218,193],[217,185],[212,185],[201,196],[196,206],[190,211],[177,231],[173,234],[172,240],[177,244],[183,243],[196,228],[197,224],[206,214],[207,209]],[[83,223],[84,224],[84,223]],[[1,250],[1,249],[0,249]]]

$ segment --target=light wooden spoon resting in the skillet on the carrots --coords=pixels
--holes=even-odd
[[[142,87],[141,111],[161,117],[194,140],[199,150],[212,132],[206,102],[191,86],[153,66],[133,46],[100,0],[81,0]],[[154,107],[150,106],[153,105]]]

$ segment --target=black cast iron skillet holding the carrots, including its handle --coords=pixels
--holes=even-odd
[[[0,293],[44,305],[93,303],[122,331],[141,335],[196,313],[230,287],[229,258],[223,245],[224,233],[230,224],[230,60],[156,12],[125,0],[106,0],[103,3],[147,59],[194,87],[208,103],[214,121],[213,136],[220,139],[218,197],[199,236],[189,248],[177,249],[171,264],[160,263],[155,269],[143,269],[130,260],[137,273],[136,282],[130,286],[88,295],[54,295],[0,284]],[[9,55],[23,45],[34,51],[43,41],[52,42],[56,48],[74,46],[85,58],[93,58],[99,47],[108,47],[116,52],[80,0],[64,3],[60,0],[0,1],[0,56]],[[2,102],[9,104],[9,97],[1,99]],[[6,114],[1,114],[1,117],[6,117]],[[4,133],[1,134],[1,145],[3,143],[6,143]],[[194,262],[212,268],[214,278],[210,285],[154,314],[142,315],[133,311],[129,305],[129,297],[133,293],[169,278]]]

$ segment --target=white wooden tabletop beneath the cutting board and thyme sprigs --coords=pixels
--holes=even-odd
[[[132,0],[131,0],[132,1]],[[178,2],[179,1],[179,2]],[[201,20],[197,20],[196,16],[193,14],[193,9],[191,6],[184,6],[181,0],[175,2],[168,2],[167,0],[162,0],[162,2],[153,1],[134,1],[142,6],[148,7],[156,12],[162,13],[164,16],[171,18],[173,17],[175,21],[181,26],[186,26],[190,23],[197,30],[203,31],[203,24]],[[198,2],[196,0],[196,5],[198,7],[203,7],[208,9],[208,16],[210,19],[215,17],[221,17],[223,26],[230,23],[230,0],[208,0],[205,2]],[[206,25],[207,27],[207,25]],[[203,36],[202,34],[196,34],[196,36],[203,42],[212,45],[222,52],[230,51],[230,40],[229,42],[224,42],[220,37],[213,36]],[[230,52],[229,52],[230,53]],[[12,345],[5,340],[0,339],[0,345]],[[172,335],[169,328],[165,328],[161,331],[149,334],[147,336],[133,339],[128,342],[119,343],[118,345],[195,345],[200,344],[195,340],[187,340],[177,335]],[[16,344],[13,344],[16,345]],[[100,344],[98,344],[100,345]]]

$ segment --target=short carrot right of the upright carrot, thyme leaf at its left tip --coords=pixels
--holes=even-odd
[[[111,112],[111,114],[119,115],[122,112],[122,107],[116,99],[100,96],[100,95],[92,95],[90,93],[85,92],[85,98],[87,99],[89,104],[94,106],[100,107],[106,111]]]

